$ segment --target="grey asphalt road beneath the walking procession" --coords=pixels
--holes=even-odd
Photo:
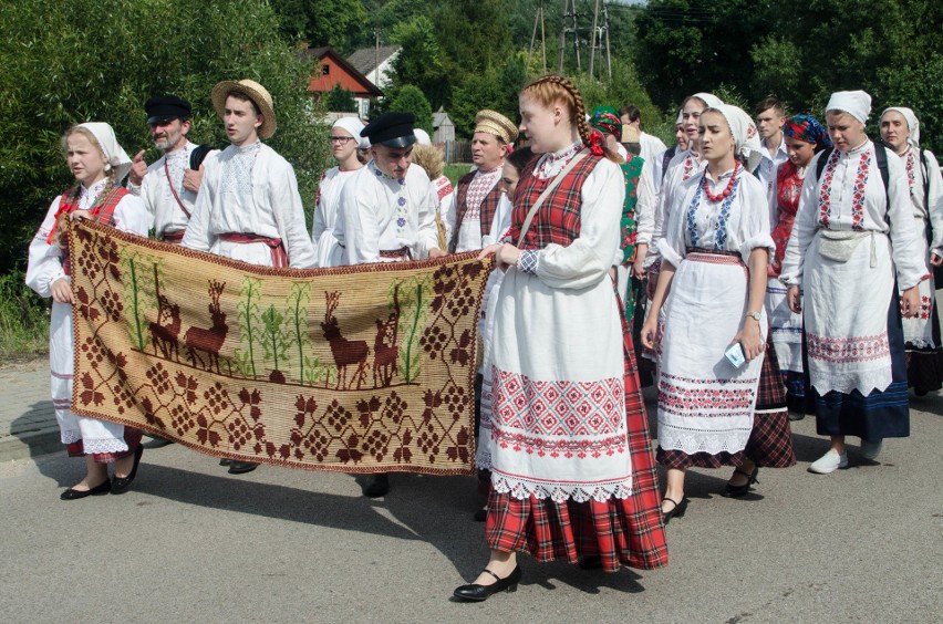
[[[3,622],[941,622],[943,396],[880,464],[806,471],[828,445],[795,424],[799,465],[722,498],[728,470],[688,477],[660,571],[586,572],[522,557],[515,594],[450,600],[487,559],[472,479],[273,467],[237,477],[148,449],[133,490],[63,502],[63,453],[0,464]],[[651,409],[651,405],[650,405]],[[854,440],[857,441],[857,440]]]

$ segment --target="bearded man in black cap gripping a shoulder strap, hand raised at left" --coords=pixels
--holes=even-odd
[[[128,190],[141,196],[154,218],[154,236],[179,245],[203,181],[203,159],[218,153],[187,138],[190,103],[176,95],[157,95],[144,104],[154,146],[164,155],[151,166],[144,149],[132,162]]]

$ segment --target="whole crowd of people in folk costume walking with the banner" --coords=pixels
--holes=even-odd
[[[454,592],[469,601],[517,587],[517,552],[663,566],[688,468],[732,467],[723,495],[742,497],[760,467],[796,464],[790,418],[806,414],[831,439],[810,471],[847,467],[847,436],[874,460],[885,438],[909,435],[909,386],[943,385],[943,180],[910,108],[887,108],[872,141],[862,91],[832,94],[819,118],[767,98],[755,119],[696,93],[666,148],[636,107],[588,114],[573,83],[549,74],[520,92],[519,124],[478,113],[475,167],[455,188],[412,114],[338,119],[338,165],[321,177],[309,230],[291,165],[262,143],[277,126],[266,89],[221,82],[211,101],[222,150],[188,139],[190,104],[173,95],[145,105],[163,152],[149,166],[105,123],[62,137],[77,184],[30,245],[27,283],[53,299],[55,413],[69,454],[86,461],[64,500],[126,491],[143,453],[141,431],[70,410],[66,219],[271,267],[494,257],[475,388],[487,493],[475,518],[490,558]],[[363,493],[388,489],[377,475]]]

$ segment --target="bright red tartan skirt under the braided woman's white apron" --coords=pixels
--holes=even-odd
[[[667,565],[659,477],[652,454],[649,423],[635,367],[632,334],[622,312],[625,353],[625,417],[632,457],[632,496],[626,499],[577,502],[516,499],[491,489],[488,497],[486,539],[494,550],[527,552],[537,561],[577,563],[599,555],[607,572],[629,565],[651,570]]]

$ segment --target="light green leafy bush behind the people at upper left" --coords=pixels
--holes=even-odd
[[[23,266],[50,200],[72,183],[62,133],[75,123],[108,122],[129,155],[148,148],[153,160],[159,154],[144,102],[155,94],[189,100],[191,137],[225,146],[213,85],[242,77],[263,84],[279,121],[269,143],[292,163],[305,205],[312,204],[329,153],[305,89],[312,67],[280,35],[266,0],[8,0],[2,15],[0,273]]]

